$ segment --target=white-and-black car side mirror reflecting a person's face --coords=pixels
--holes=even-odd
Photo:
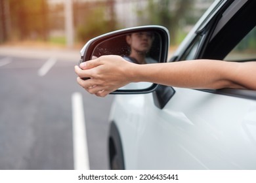
[[[165,27],[147,25],[121,29],[91,39],[81,49],[79,63],[104,55],[118,55],[137,64],[167,61],[169,32]],[[149,93],[158,85],[148,82],[131,83],[112,94]]]

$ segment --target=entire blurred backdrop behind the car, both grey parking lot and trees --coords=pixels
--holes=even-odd
[[[102,33],[151,24],[167,27],[175,48],[212,2],[0,0],[0,169],[108,169],[114,96],[78,86],[79,50]]]

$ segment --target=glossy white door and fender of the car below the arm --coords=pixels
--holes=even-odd
[[[175,90],[162,110],[150,94],[116,97],[126,169],[255,169],[256,101]]]

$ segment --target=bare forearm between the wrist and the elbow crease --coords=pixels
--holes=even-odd
[[[229,71],[236,65],[225,61],[193,60],[140,65],[137,80],[181,88],[242,88],[231,82]]]

